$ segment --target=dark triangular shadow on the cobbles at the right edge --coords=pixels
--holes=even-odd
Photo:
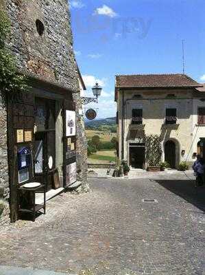
[[[155,181],[160,186],[163,186],[205,212],[205,186],[195,188],[195,181],[193,180],[160,179]]]

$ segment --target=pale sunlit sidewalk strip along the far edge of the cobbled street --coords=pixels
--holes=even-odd
[[[88,177],[93,178],[113,178],[114,169],[110,170],[110,174],[107,175],[107,169],[105,168],[93,168],[88,170]],[[142,169],[131,169],[128,176],[121,177],[121,179],[192,179],[195,177],[193,175],[193,170],[178,171],[178,170],[165,170],[161,172],[147,172]],[[116,179],[116,178],[115,178]]]

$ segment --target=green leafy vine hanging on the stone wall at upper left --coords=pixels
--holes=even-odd
[[[0,91],[1,95],[17,94],[27,90],[27,78],[17,72],[16,58],[5,47],[5,41],[10,35],[10,20],[7,14],[0,10]]]

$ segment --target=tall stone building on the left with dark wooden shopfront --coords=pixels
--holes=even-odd
[[[16,221],[22,184],[38,181],[53,194],[75,182],[88,190],[86,137],[68,1],[0,0],[0,8],[11,23],[6,46],[30,87],[0,100],[1,217],[10,212]]]

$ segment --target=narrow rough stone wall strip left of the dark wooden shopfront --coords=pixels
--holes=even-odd
[[[0,97],[0,224],[9,214],[9,182],[7,155],[7,113]]]

